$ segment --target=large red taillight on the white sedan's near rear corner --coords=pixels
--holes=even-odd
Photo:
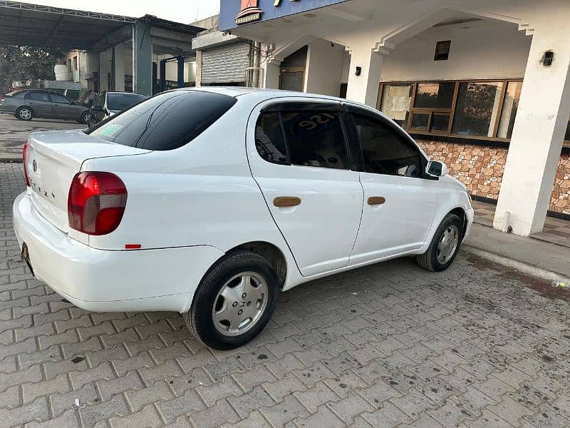
[[[69,227],[88,235],[113,232],[125,213],[127,188],[112,173],[78,173],[67,200]]]

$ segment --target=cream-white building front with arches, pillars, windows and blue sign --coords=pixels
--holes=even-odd
[[[222,1],[220,27],[271,48],[263,86],[379,108],[497,203],[499,230],[529,235],[546,213],[569,218],[570,2],[248,5]]]

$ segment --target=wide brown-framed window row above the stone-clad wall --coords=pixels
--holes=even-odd
[[[380,83],[378,109],[412,133],[508,140],[522,80]]]

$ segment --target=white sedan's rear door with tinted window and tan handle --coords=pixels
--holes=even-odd
[[[363,191],[351,170],[341,104],[291,98],[258,106],[247,142],[252,174],[301,274],[348,265]]]

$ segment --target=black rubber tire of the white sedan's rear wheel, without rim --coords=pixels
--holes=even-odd
[[[224,335],[214,326],[212,308],[222,287],[235,275],[254,272],[266,282],[268,293],[265,309],[257,322],[240,335]],[[266,258],[249,251],[230,253],[219,260],[202,278],[190,311],[182,314],[186,325],[197,339],[215,350],[232,350],[259,335],[273,315],[279,295],[279,277]]]

